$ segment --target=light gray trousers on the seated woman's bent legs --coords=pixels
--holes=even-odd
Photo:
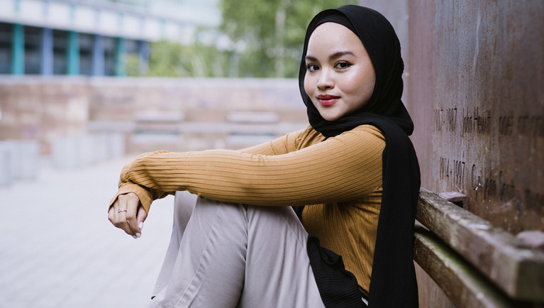
[[[307,236],[291,207],[177,192],[172,238],[149,307],[324,307]]]

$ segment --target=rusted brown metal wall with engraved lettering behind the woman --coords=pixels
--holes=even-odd
[[[544,1],[360,4],[403,44],[422,186],[466,194],[465,209],[511,233],[544,230]],[[421,307],[453,307],[421,269],[418,283]]]

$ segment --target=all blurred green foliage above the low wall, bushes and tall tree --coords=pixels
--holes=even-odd
[[[160,40],[150,43],[147,72],[138,55],[126,56],[126,72],[152,77],[296,77],[311,18],[323,9],[357,2],[221,0],[220,30],[238,47],[219,50],[213,42],[181,45]],[[200,31],[213,29],[198,29],[197,38]]]

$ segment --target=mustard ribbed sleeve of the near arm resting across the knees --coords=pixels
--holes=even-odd
[[[297,147],[304,146],[304,138],[295,141]],[[121,182],[158,192],[188,190],[221,202],[265,206],[354,201],[380,184],[383,149],[381,133],[372,126],[360,126],[281,155],[158,151],[126,165]],[[148,210],[148,200],[140,201]]]

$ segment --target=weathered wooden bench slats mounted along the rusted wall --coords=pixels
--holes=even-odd
[[[544,251],[424,189],[413,259],[456,307],[542,307]]]

